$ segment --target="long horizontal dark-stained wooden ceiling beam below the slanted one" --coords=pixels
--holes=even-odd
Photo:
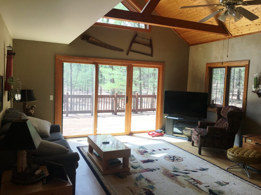
[[[111,18],[114,20],[122,20],[128,22],[137,22],[167,28],[196,30],[205,33],[219,34],[225,36],[229,35],[228,32],[224,30],[222,26],[180,20],[176,18],[167,18],[163,16],[155,16],[151,14],[144,14],[120,9],[112,9],[104,16],[104,18]]]

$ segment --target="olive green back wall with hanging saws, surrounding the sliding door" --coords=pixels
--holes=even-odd
[[[22,87],[33,88],[38,100],[30,103],[36,106],[35,117],[54,124],[55,101],[50,101],[49,95],[55,95],[55,55],[165,62],[164,89],[186,91],[189,46],[173,30],[152,26],[151,33],[138,32],[138,36],[152,39],[153,57],[132,52],[127,56],[126,51],[136,33],[130,30],[92,26],[82,34],[91,35],[122,48],[124,52],[87,43],[81,40],[82,35],[68,45],[14,39],[16,51],[14,77],[21,79]],[[144,46],[134,47],[149,52],[146,47],[143,48]],[[22,103],[14,103],[14,108],[22,110]],[[163,126],[165,126],[164,117]]]

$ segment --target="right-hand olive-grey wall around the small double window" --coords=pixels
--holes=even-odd
[[[247,85],[246,116],[236,135],[235,145],[239,145],[240,135],[261,133],[261,98],[252,93],[253,75],[261,74],[261,33],[248,35],[224,42],[224,62],[249,60]],[[206,43],[190,47],[188,69],[188,91],[204,92],[206,63],[222,61],[223,41]],[[208,120],[215,121],[216,114],[208,112]]]

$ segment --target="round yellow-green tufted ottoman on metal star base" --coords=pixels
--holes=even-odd
[[[227,151],[227,157],[230,160],[238,162],[238,164],[230,167],[234,167],[242,163],[243,167],[234,167],[234,168],[243,168],[246,171],[248,178],[250,177],[246,168],[246,164],[254,165],[254,164],[261,163],[261,152],[248,148],[240,148],[240,147],[229,148]],[[226,170],[231,169],[230,167],[227,167]]]

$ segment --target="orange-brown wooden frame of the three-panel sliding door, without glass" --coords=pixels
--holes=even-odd
[[[162,127],[162,116],[163,116],[163,89],[164,89],[164,62],[146,62],[146,61],[134,61],[134,60],[114,60],[114,59],[103,59],[103,58],[92,58],[92,57],[77,57],[77,56],[65,56],[65,55],[55,55],[55,124],[62,127],[62,86],[63,86],[63,63],[90,63],[95,64],[95,88],[96,92],[94,95],[94,123],[93,123],[93,134],[97,134],[97,91],[98,91],[98,64],[106,65],[119,65],[127,66],[127,82],[128,89],[126,94],[129,97],[132,96],[132,71],[133,67],[150,67],[158,68],[158,90],[157,90],[157,112],[156,112],[156,129]],[[129,98],[131,100],[131,98]],[[131,112],[131,101],[126,104],[126,114]],[[131,115],[125,118],[125,132],[116,133],[112,135],[122,135],[130,134],[131,129],[127,129],[128,123],[131,126]],[[127,123],[127,124],[126,124]],[[147,132],[147,131],[146,131]],[[132,132],[138,133],[138,132]],[[77,135],[77,136],[66,136],[66,138],[74,137],[86,137],[87,135]]]

